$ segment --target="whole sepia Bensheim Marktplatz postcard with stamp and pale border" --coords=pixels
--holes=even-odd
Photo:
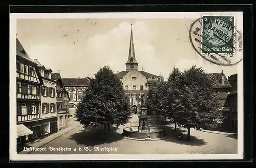
[[[10,130],[12,161],[243,159],[243,13],[11,13]]]

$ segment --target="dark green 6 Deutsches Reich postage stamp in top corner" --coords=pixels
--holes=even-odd
[[[234,23],[234,16],[203,16],[202,52],[233,54]]]

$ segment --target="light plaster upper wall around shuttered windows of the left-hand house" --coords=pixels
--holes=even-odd
[[[41,112],[42,112],[42,118],[48,118],[48,117],[54,117],[57,116],[57,107],[56,107],[56,82],[52,82],[46,79],[43,79],[44,81],[44,85],[43,86],[47,86],[47,87],[52,87],[55,89],[55,97],[45,97],[43,95],[41,95]],[[41,86],[42,87],[42,86]],[[50,94],[50,93],[49,93]],[[42,106],[43,103],[54,103],[55,105],[55,112],[49,112],[49,113],[44,113],[42,110],[44,109],[44,107]]]

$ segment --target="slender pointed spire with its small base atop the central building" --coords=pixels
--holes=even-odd
[[[138,62],[135,58],[134,44],[133,44],[133,24],[131,24],[131,39],[130,39],[130,48],[128,61],[125,63],[126,71],[138,70]]]

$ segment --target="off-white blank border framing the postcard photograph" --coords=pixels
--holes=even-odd
[[[243,159],[243,61],[238,64],[238,154],[72,154],[22,155],[16,152],[16,20],[22,18],[200,18],[206,12],[145,13],[11,13],[10,14],[10,160],[208,160]],[[207,12],[209,13],[209,12]],[[225,12],[211,12],[220,14]],[[230,12],[228,12],[230,13]],[[243,33],[243,12],[237,15],[237,29]],[[14,47],[12,47],[14,46]],[[243,55],[243,52],[240,53]]]

